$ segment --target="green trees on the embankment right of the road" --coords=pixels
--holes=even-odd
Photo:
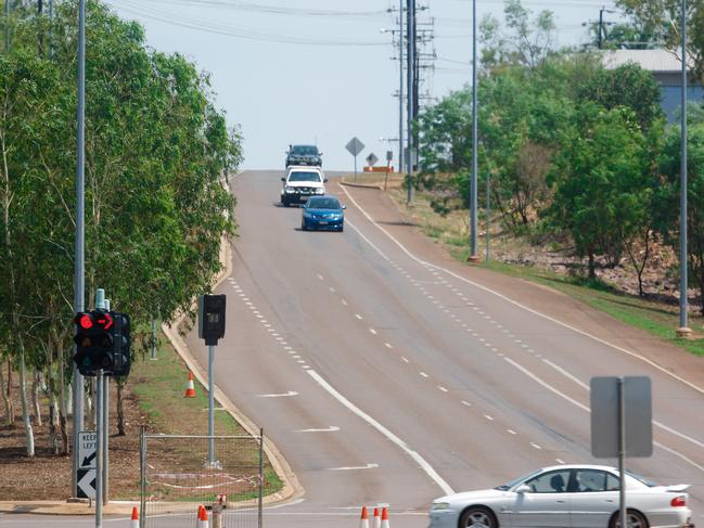
[[[676,48],[675,4],[619,4],[632,24],[667,27],[657,39]],[[657,5],[654,5],[657,4]],[[671,5],[670,5],[671,4]],[[689,14],[692,35],[704,35],[704,8]],[[491,175],[491,201],[515,235],[549,234],[566,241],[596,278],[626,261],[637,275],[655,239],[677,250],[680,133],[668,126],[661,89],[635,64],[615,69],[594,51],[555,50],[550,11],[534,16],[519,0],[505,3],[505,28],[482,24],[478,85],[479,184]],[[704,41],[692,56],[701,72]],[[691,103],[690,103],[691,104]],[[439,213],[470,205],[471,88],[455,91],[421,113],[420,175]],[[690,112],[689,270],[704,297],[704,112]],[[704,306],[702,307],[704,311]]]

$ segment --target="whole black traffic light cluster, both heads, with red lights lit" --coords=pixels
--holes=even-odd
[[[106,376],[126,376],[130,369],[130,321],[127,313],[93,310],[79,312],[76,323],[78,372],[94,376],[100,369]]]

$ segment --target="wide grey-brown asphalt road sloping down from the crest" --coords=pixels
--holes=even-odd
[[[303,232],[298,208],[279,205],[281,176],[233,179],[240,236],[216,291],[228,326],[215,381],[305,489],[266,526],[356,527],[362,504],[387,503],[392,526],[420,528],[446,493],[559,463],[615,465],[590,453],[597,375],[652,378],[654,452],[627,467],[692,484],[704,523],[701,359],[453,261],[375,190],[329,183],[347,205],[344,233]],[[194,332],[187,342],[207,365]],[[16,526],[43,526],[31,521]]]

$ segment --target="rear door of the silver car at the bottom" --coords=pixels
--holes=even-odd
[[[602,469],[576,469],[571,482],[569,523],[573,528],[609,526],[618,510],[618,478]]]

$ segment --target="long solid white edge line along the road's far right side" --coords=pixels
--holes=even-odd
[[[688,381],[684,379],[683,377],[680,377],[680,376],[678,376],[677,374],[674,374],[674,373],[669,372],[669,371],[668,371],[667,369],[665,369],[664,366],[658,365],[658,364],[655,363],[654,361],[651,361],[651,360],[649,360],[648,358],[645,358],[645,357],[643,357],[643,356],[640,356],[640,355],[638,355],[638,353],[636,353],[636,352],[633,352],[633,351],[631,351],[631,350],[628,350],[628,349],[626,349],[626,348],[623,348],[623,347],[619,347],[619,346],[617,346],[617,345],[614,345],[613,343],[609,343],[607,340],[602,339],[601,337],[597,337],[596,335],[592,335],[592,334],[590,334],[590,333],[588,333],[588,332],[585,332],[584,330],[579,330],[579,329],[577,329],[577,327],[575,327],[575,326],[572,326],[572,325],[569,325],[569,324],[567,324],[567,323],[564,323],[564,322],[560,321],[559,319],[552,318],[552,317],[550,317],[550,315],[548,315],[548,314],[546,314],[546,313],[539,312],[538,310],[534,310],[533,308],[529,308],[529,307],[527,307],[527,306],[525,306],[525,305],[519,302],[517,300],[513,300],[512,298],[510,298],[510,297],[508,297],[508,296],[505,296],[505,295],[503,295],[503,294],[500,294],[499,292],[496,292],[496,291],[494,291],[494,289],[491,289],[491,288],[489,288],[489,287],[487,287],[487,286],[484,286],[484,285],[482,285],[482,284],[479,284],[479,283],[477,283],[477,282],[471,281],[471,280],[469,280],[469,279],[466,279],[466,278],[464,278],[464,276],[462,276],[462,275],[459,275],[458,273],[455,273],[455,272],[451,271],[451,270],[448,270],[448,269],[446,269],[446,268],[443,268],[441,266],[437,266],[437,265],[434,265],[434,263],[431,263],[431,262],[427,262],[427,261],[425,261],[425,260],[422,260],[422,259],[418,258],[415,255],[413,255],[412,253],[410,253],[410,252],[406,248],[406,246],[404,246],[400,242],[398,242],[398,241],[394,237],[394,235],[392,235],[392,234],[391,234],[386,229],[382,228],[379,223],[376,223],[376,222],[374,221],[374,219],[373,219],[371,216],[369,216],[369,214],[368,214],[364,209],[361,208],[361,206],[360,206],[360,205],[355,201],[355,198],[351,197],[351,195],[349,194],[349,192],[347,191],[347,189],[343,188],[343,191],[345,192],[345,194],[347,195],[347,197],[349,198],[349,201],[355,205],[355,207],[357,207],[357,208],[361,211],[361,214],[362,214],[362,215],[363,215],[363,216],[364,216],[364,217],[366,217],[366,218],[367,218],[367,219],[372,223],[372,226],[374,226],[374,227],[375,227],[376,229],[379,229],[382,233],[384,233],[384,234],[385,234],[388,239],[391,239],[391,240],[392,240],[392,241],[393,241],[393,242],[394,242],[394,243],[395,243],[395,244],[396,244],[396,245],[397,245],[397,246],[398,246],[398,247],[399,247],[399,248],[400,248],[400,249],[401,249],[406,255],[408,255],[409,258],[411,258],[412,260],[417,261],[418,263],[420,263],[420,265],[422,265],[422,266],[425,266],[427,269],[441,270],[441,271],[444,271],[445,273],[447,273],[448,275],[453,276],[455,279],[458,279],[458,280],[460,280],[460,281],[462,281],[462,282],[464,282],[464,283],[466,283],[466,284],[471,284],[472,286],[475,286],[475,287],[477,287],[477,288],[479,288],[479,289],[482,289],[482,291],[484,291],[484,292],[487,292],[487,293],[489,293],[489,294],[491,294],[491,295],[495,295],[496,297],[499,297],[500,299],[503,299],[503,300],[505,300],[507,302],[511,302],[512,305],[514,305],[514,306],[516,306],[516,307],[519,307],[519,308],[521,308],[521,309],[523,309],[523,310],[525,310],[525,311],[527,311],[527,312],[529,312],[529,313],[533,313],[533,314],[538,315],[538,317],[540,317],[540,318],[542,318],[542,319],[546,319],[546,320],[551,321],[551,322],[553,322],[553,323],[555,323],[555,324],[559,324],[559,325],[562,326],[562,327],[565,327],[565,329],[572,330],[573,332],[576,332],[577,334],[584,335],[585,337],[589,337],[590,339],[593,339],[593,340],[596,340],[597,343],[601,343],[602,345],[605,345],[605,346],[607,346],[607,347],[610,347],[610,348],[613,348],[614,350],[618,350],[618,351],[620,351],[620,352],[623,352],[623,353],[627,353],[628,356],[631,356],[631,357],[633,357],[633,358],[638,358],[638,359],[640,359],[641,361],[643,361],[643,362],[648,363],[649,365],[653,366],[654,369],[656,369],[656,370],[663,372],[664,374],[666,374],[666,375],[673,377],[674,379],[677,379],[678,382],[683,383],[684,385],[689,386],[690,388],[692,388],[692,389],[696,390],[697,392],[704,395],[704,388],[699,387],[697,385],[694,385],[693,383],[688,382]]]

